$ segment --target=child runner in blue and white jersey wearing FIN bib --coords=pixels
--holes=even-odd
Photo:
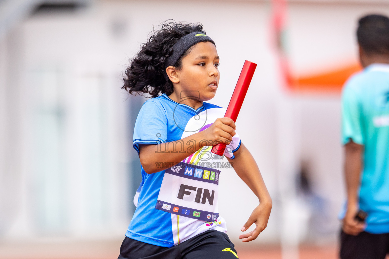
[[[236,259],[217,209],[221,172],[232,164],[259,200],[241,231],[256,228],[239,238],[254,240],[266,228],[272,200],[258,166],[225,110],[205,102],[219,86],[218,66],[202,24],[173,22],[153,31],[127,68],[123,88],[152,98],[135,123],[142,183],[119,258]],[[218,141],[228,144],[228,162],[210,152]]]

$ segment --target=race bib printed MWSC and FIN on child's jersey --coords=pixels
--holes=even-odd
[[[203,221],[216,221],[220,171],[180,162],[166,169],[158,210]]]

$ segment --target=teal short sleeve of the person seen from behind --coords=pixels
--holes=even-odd
[[[348,82],[342,92],[342,144],[349,143],[350,139],[363,145],[363,127],[361,123],[361,104],[357,92]]]

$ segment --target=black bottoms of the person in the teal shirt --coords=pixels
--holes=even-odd
[[[357,236],[340,233],[341,259],[384,259],[389,254],[389,233],[361,232]]]

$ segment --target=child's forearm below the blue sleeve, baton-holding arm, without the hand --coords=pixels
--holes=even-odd
[[[139,144],[139,158],[147,174],[165,170],[181,162],[203,146],[212,141],[205,140],[203,132],[195,133],[177,141],[158,145]]]

